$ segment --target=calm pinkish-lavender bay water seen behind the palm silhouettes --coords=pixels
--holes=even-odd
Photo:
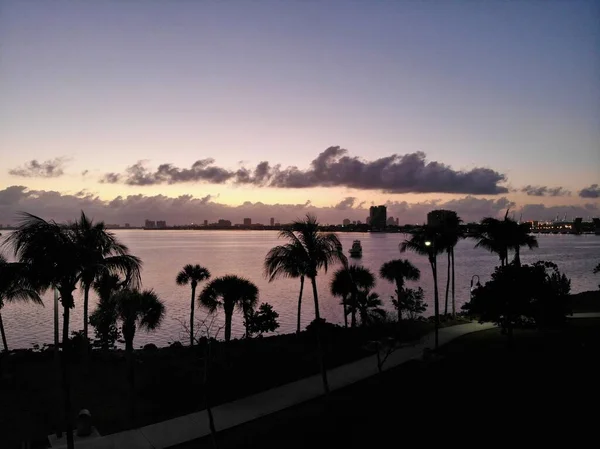
[[[299,280],[280,279],[269,283],[263,276],[263,260],[270,248],[280,244],[277,232],[272,231],[115,231],[126,243],[132,254],[144,262],[142,281],[144,288],[153,288],[165,301],[167,316],[161,328],[151,334],[138,331],[135,345],[155,343],[164,346],[180,340],[186,342],[182,322],[189,316],[190,288],[175,284],[175,276],[187,263],[199,263],[207,267],[213,277],[224,274],[237,274],[254,282],[260,289],[260,302],[268,302],[279,313],[278,332],[293,332],[296,327],[297,299]],[[427,259],[416,254],[400,254],[398,244],[402,234],[340,233],[339,238],[345,251],[352,241],[360,239],[363,257],[356,263],[362,264],[377,273],[386,261],[403,257],[411,260],[421,270],[421,280],[409,282],[408,286],[421,286],[425,290],[429,304],[428,314],[433,312],[433,281]],[[600,255],[600,237],[594,235],[539,235],[540,247],[534,251],[523,250],[522,262],[550,260],[558,264],[561,271],[572,281],[572,292],[595,290],[600,276],[594,276],[592,270]],[[479,275],[481,282],[489,279],[498,263],[497,256],[481,249],[474,249],[474,241],[461,241],[456,248],[456,300],[457,310],[468,300],[471,277]],[[337,267],[334,267],[334,270]],[[329,282],[332,272],[321,273],[317,277],[321,316],[327,321],[342,323],[342,306],[339,299],[329,294]],[[439,262],[440,300],[443,299],[446,285],[446,259],[440,256]],[[200,284],[201,289],[203,284]],[[393,310],[390,296],[394,286],[380,278],[374,291],[380,294],[385,308]],[[82,328],[82,300],[80,292],[75,292],[75,309],[71,314],[72,329]],[[52,331],[52,295],[44,298],[46,307],[30,304],[8,304],[2,310],[8,343],[11,348],[29,348],[33,343],[49,343],[53,339]],[[90,310],[93,310],[96,298],[91,298]],[[204,312],[196,312],[202,317]],[[302,325],[306,326],[314,318],[314,303],[310,284],[305,284],[302,309]],[[91,328],[90,328],[91,332]],[[233,336],[243,333],[242,320],[234,316]]]

